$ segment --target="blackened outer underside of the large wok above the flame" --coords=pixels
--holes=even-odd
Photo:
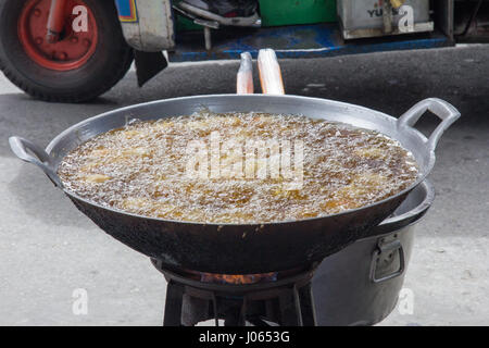
[[[100,228],[168,269],[254,274],[291,270],[321,261],[347,247],[389,216],[406,195],[338,217],[266,225],[205,225],[162,222],[75,206]]]

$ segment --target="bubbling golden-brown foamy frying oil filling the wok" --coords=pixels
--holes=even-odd
[[[278,177],[189,177],[190,141],[303,142],[302,185]],[[223,144],[221,144],[222,146]],[[292,151],[293,152],[293,151]],[[293,153],[292,153],[293,154]],[[221,164],[244,156],[221,153]],[[258,161],[269,160],[271,153]],[[130,122],[71,151],[59,167],[68,190],[104,207],[199,223],[267,223],[328,215],[396,195],[418,170],[413,156],[377,132],[297,115],[200,112]]]

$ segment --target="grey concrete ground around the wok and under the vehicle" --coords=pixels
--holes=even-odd
[[[430,175],[437,198],[417,225],[404,284],[413,310],[397,308],[383,325],[489,325],[488,58],[488,46],[466,46],[281,63],[288,94],[392,115],[439,97],[463,114],[440,141]],[[46,146],[66,127],[122,105],[233,92],[237,67],[174,64],[142,89],[130,72],[87,104],[35,101],[0,74],[0,325],[160,325],[165,298],[165,281],[149,260],[102,233],[38,169],[14,158],[8,137]],[[431,129],[431,121],[421,129]]]

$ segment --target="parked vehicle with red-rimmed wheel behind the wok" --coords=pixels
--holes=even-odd
[[[261,0],[260,21],[222,26],[171,0],[0,0],[0,69],[28,95],[91,100],[133,61],[142,86],[170,62],[275,49],[316,58],[427,49],[487,39],[489,1]]]

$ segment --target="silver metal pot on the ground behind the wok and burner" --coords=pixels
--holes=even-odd
[[[415,224],[435,199],[425,181],[372,231],[327,257],[313,278],[318,325],[373,325],[394,309],[413,249]]]

